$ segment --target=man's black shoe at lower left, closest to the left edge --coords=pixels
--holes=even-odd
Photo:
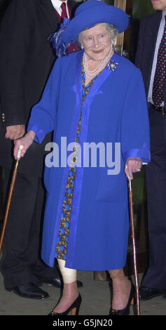
[[[8,291],[13,291],[18,294],[18,296],[23,298],[32,298],[32,299],[45,299],[49,297],[49,294],[46,291],[43,291],[39,286],[34,283],[24,283],[18,286],[14,286]]]

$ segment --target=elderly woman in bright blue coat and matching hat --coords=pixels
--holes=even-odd
[[[20,144],[23,156],[34,140],[41,143],[54,131],[56,148],[50,162],[46,159],[44,177],[48,194],[41,256],[50,267],[57,258],[64,289],[52,315],[70,310],[78,314],[76,270],[109,271],[110,315],[129,315],[133,303],[134,285],[123,272],[129,228],[127,176],[132,179],[150,155],[141,74],[112,48],[115,34],[127,25],[125,12],[102,1],[78,6],[62,38],[66,44],[79,41],[82,49],[55,62],[43,96],[32,109],[28,133],[15,141],[16,158]],[[69,166],[64,164],[64,137],[69,150],[73,147]],[[99,155],[97,165],[88,166],[85,143],[111,145],[110,166],[104,166],[105,158],[100,162]]]

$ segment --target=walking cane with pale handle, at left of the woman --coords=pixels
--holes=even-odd
[[[21,150],[23,149],[23,145],[20,145],[19,149],[18,149],[18,158],[15,161],[15,168],[13,170],[13,176],[12,176],[12,180],[11,180],[11,187],[8,193],[8,201],[7,201],[7,205],[6,205],[6,212],[5,212],[5,216],[4,216],[4,223],[3,223],[3,227],[2,227],[2,231],[1,231],[1,237],[0,237],[0,255],[1,255],[1,248],[2,248],[2,244],[4,241],[4,234],[5,234],[5,230],[6,230],[6,224],[7,224],[7,220],[8,220],[8,213],[9,213],[9,209],[11,206],[11,198],[12,198],[12,194],[13,194],[13,189],[15,186],[15,179],[17,176],[17,170],[18,170],[18,163],[20,161],[21,158]]]

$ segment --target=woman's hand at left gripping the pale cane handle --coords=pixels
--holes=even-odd
[[[15,157],[15,159],[18,158],[18,149],[19,149],[20,145],[23,146],[23,149],[20,153],[20,156],[23,157],[25,155],[25,152],[27,151],[27,149],[30,147],[30,145],[32,145],[35,136],[36,136],[36,134],[34,133],[34,131],[29,131],[23,138],[20,138],[20,139],[14,141],[14,144],[15,144],[14,157]]]

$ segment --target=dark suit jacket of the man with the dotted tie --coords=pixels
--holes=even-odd
[[[155,43],[158,37],[161,18],[162,11],[158,11],[158,13],[144,18],[140,24],[135,64],[139,67],[143,75],[146,95],[148,95],[148,88],[151,80]],[[164,88],[164,101],[166,104],[166,84]]]

